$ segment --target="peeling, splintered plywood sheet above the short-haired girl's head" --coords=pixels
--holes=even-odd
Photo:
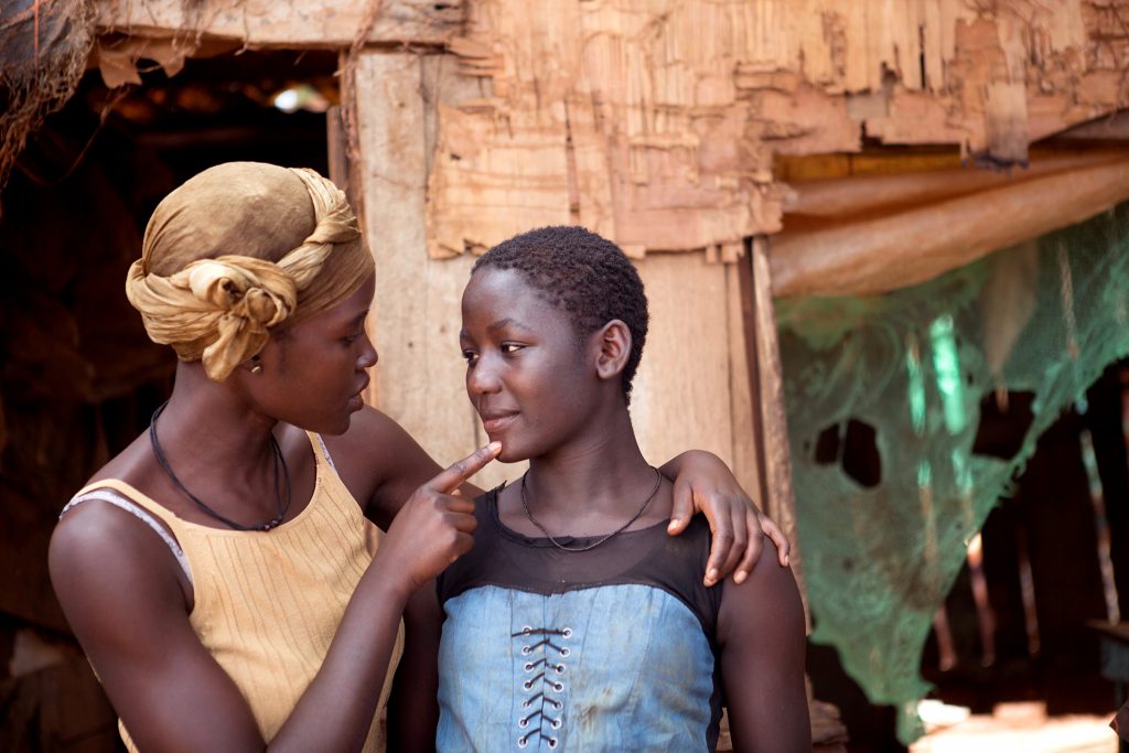
[[[470,3],[485,96],[440,111],[429,249],[581,222],[633,253],[781,227],[773,156],[959,145],[991,164],[1129,102],[1126,0]]]

